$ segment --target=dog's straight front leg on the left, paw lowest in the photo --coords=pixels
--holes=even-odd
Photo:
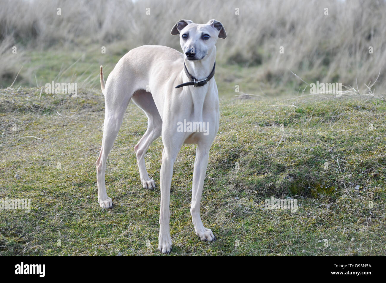
[[[169,229],[170,220],[170,186],[173,176],[173,165],[178,151],[172,148],[164,147],[162,151],[161,172],[159,175],[161,185],[161,210],[159,213],[159,251],[169,254],[171,251],[171,237]]]

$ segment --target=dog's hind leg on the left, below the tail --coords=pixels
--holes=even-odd
[[[112,200],[107,196],[105,184],[106,159],[118,135],[131,95],[128,95],[122,88],[108,88],[107,86],[104,93],[107,99],[105,100],[106,110],[105,122],[103,124],[102,148],[95,165],[97,166],[99,205],[102,208],[112,208]]]

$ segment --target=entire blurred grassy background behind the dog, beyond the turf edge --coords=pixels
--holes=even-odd
[[[262,97],[296,95],[306,84],[293,73],[363,92],[380,73],[373,90],[385,93],[383,0],[1,0],[0,87],[20,71],[14,86],[55,80],[99,91],[100,64],[106,78],[134,47],[180,50],[170,34],[180,19],[224,25],[216,73],[222,97],[234,97],[235,85]]]

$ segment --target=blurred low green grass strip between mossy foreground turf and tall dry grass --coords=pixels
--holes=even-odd
[[[136,46],[132,46],[133,48]],[[130,48],[132,49],[132,48]],[[179,50],[179,49],[178,49]],[[15,80],[14,86],[39,86],[55,81],[58,83],[78,83],[86,89],[100,89],[99,67],[103,65],[105,80],[124,54],[129,51],[127,42],[107,44],[106,53],[101,53],[101,46],[91,44],[84,49],[75,50],[56,47],[46,50],[33,50],[23,53],[22,63],[14,66],[14,73],[7,73],[0,82],[0,87],[8,87]],[[21,56],[21,55],[20,55]],[[284,92],[293,90],[297,93],[300,80],[292,76],[291,83],[283,85],[279,75],[272,75],[267,66],[245,66],[245,64],[228,64],[219,58],[216,63],[216,82],[222,98],[234,98],[242,93],[252,93],[258,97],[283,96]],[[322,72],[325,74],[325,71]],[[322,76],[322,74],[319,74]],[[308,78],[308,77],[306,77]],[[16,87],[17,88],[17,87]],[[302,86],[302,89],[304,85]]]

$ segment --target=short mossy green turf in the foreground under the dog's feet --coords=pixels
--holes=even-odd
[[[130,103],[109,155],[114,207],[103,210],[95,174],[102,95],[39,100],[38,88],[16,89],[0,90],[0,199],[30,198],[31,212],[0,210],[0,255],[160,255],[162,141],[146,154],[157,189],[145,190],[133,149],[146,130],[141,110]],[[171,186],[172,254],[384,255],[385,111],[382,98],[221,100],[201,200],[218,240],[195,235],[195,146],[184,145]],[[271,196],[295,198],[298,211],[264,210]]]

